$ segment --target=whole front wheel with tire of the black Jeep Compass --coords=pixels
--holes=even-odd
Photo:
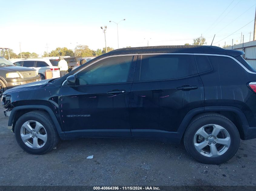
[[[15,124],[14,133],[19,146],[30,154],[45,154],[51,151],[59,140],[50,116],[43,111],[31,111],[22,115]]]

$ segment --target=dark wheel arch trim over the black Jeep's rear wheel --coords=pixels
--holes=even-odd
[[[244,127],[249,126],[248,121],[241,109],[232,106],[209,106],[190,110],[182,120],[178,132],[183,137],[189,123],[196,117],[207,113],[218,113],[227,117],[238,129],[240,138],[245,140]]]

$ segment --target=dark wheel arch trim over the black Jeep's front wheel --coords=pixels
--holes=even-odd
[[[60,126],[55,114],[49,107],[44,106],[44,105],[25,105],[25,106],[14,107],[12,109],[12,112],[9,117],[8,126],[12,126],[12,130],[14,132],[15,123],[18,120],[18,118],[20,116],[24,115],[25,113],[28,113],[30,111],[35,111],[35,110],[45,111],[46,113],[48,113],[55,125],[58,135],[60,137],[64,136],[64,132],[62,131],[61,126]]]

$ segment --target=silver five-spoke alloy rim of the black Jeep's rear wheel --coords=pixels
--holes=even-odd
[[[205,125],[194,135],[194,147],[206,157],[218,157],[230,147],[231,138],[228,131],[216,124]]]

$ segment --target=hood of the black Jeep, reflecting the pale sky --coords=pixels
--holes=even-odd
[[[23,91],[23,90],[30,90],[30,89],[39,89],[45,87],[45,85],[49,84],[49,81],[52,79],[47,79],[47,80],[41,80],[41,81],[36,81],[32,82],[29,84],[24,84],[24,85],[19,85],[14,88],[6,90],[3,94],[9,94],[15,91]]]

